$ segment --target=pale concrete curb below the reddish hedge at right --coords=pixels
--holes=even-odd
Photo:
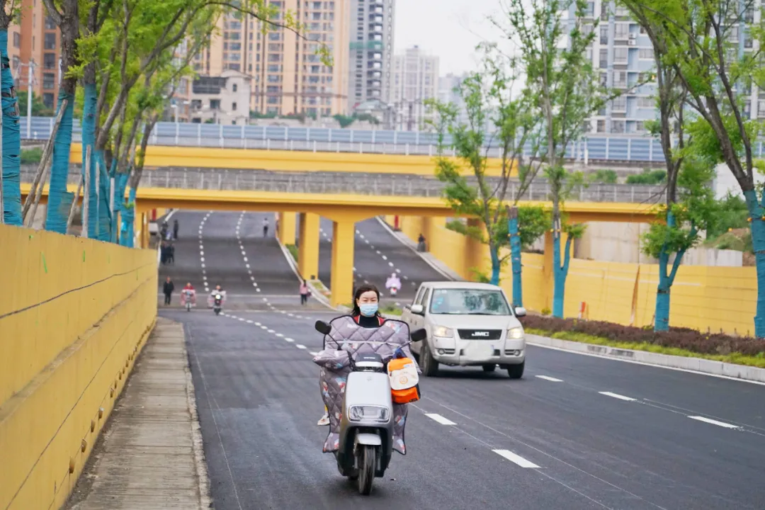
[[[694,372],[702,375],[734,379],[743,382],[765,385],[765,369],[755,366],[736,365],[734,363],[714,361],[711,359],[671,356],[656,352],[636,351],[632,349],[617,349],[609,346],[596,346],[591,343],[572,342],[526,334],[526,343],[532,346],[577,352],[588,356],[615,359],[617,361],[653,365],[664,369]]]

